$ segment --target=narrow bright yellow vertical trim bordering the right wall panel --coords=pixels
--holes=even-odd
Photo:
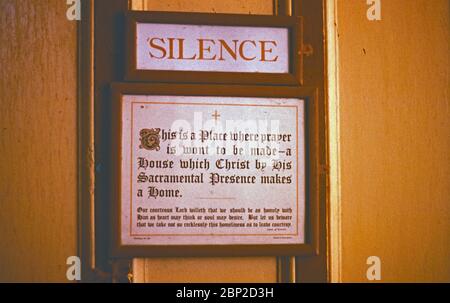
[[[339,52],[337,0],[326,1],[328,152],[329,152],[329,280],[341,282],[341,187],[339,135]]]

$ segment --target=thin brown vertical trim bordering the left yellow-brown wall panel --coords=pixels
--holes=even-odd
[[[83,275],[95,269],[93,2],[82,2],[78,24],[78,250]],[[84,279],[83,279],[84,280]]]

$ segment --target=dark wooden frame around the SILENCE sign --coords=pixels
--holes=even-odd
[[[301,85],[303,83],[303,56],[299,56],[303,43],[300,17],[138,11],[128,12],[126,17],[127,62],[125,80],[127,81],[240,85]],[[138,22],[287,28],[289,30],[289,73],[138,70],[136,68],[136,24]]]

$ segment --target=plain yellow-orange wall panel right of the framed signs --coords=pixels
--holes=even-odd
[[[337,1],[342,279],[450,281],[448,0]]]

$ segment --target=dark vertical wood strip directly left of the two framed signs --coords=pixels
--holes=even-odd
[[[94,44],[94,119],[95,119],[95,259],[96,267],[111,272],[123,266],[110,262],[110,159],[111,144],[109,85],[123,80],[124,71],[124,12],[128,0],[95,0]],[[123,263],[125,264],[125,263]],[[122,280],[114,274],[116,280]],[[124,279],[125,280],[125,279]]]

